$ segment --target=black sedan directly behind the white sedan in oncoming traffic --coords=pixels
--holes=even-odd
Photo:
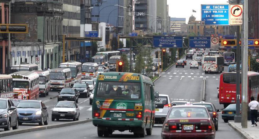
[[[78,103],[78,91],[75,88],[63,88],[58,92],[58,101],[75,101]]]

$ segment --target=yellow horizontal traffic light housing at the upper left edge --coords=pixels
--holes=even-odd
[[[27,24],[0,24],[0,33],[28,33]]]

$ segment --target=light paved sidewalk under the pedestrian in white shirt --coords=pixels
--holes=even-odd
[[[259,138],[259,125],[252,127],[251,121],[247,121],[247,128],[242,128],[241,123],[229,122],[228,124],[245,139]]]

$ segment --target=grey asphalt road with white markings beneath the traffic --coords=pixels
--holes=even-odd
[[[194,55],[194,57],[196,54]],[[199,69],[190,69],[188,60],[187,65],[184,68],[175,68],[175,66],[169,68],[168,71],[162,72],[161,77],[154,83],[155,91],[158,91],[160,94],[167,94],[170,96],[172,101],[192,101],[200,102],[202,100],[202,91],[203,91],[203,80],[206,79],[206,94],[205,102],[214,103],[217,109],[223,109],[223,105],[219,105],[219,100],[217,98],[218,90],[216,89],[219,86],[219,73],[209,73],[204,74],[202,72],[201,66]],[[225,71],[228,69],[225,66]],[[50,92],[50,95],[47,97],[40,97],[40,100],[43,100],[45,105],[48,107],[49,113],[51,109],[57,103],[57,99],[49,100],[49,97],[57,95],[57,92]],[[80,107],[80,120],[91,118],[91,105],[89,105],[88,98],[80,98],[78,102]],[[233,138],[241,139],[242,137],[238,135],[227,123],[221,119],[221,112],[219,112],[219,130],[216,132],[216,138]],[[63,121],[49,121],[49,124],[69,122],[70,120]],[[23,125],[20,128],[34,127],[34,125]],[[160,126],[160,125],[158,125]],[[146,136],[146,138],[157,139],[160,138],[161,127],[154,127],[153,133],[151,136]],[[42,130],[29,133],[22,133],[19,135],[8,136],[5,138],[99,138],[97,136],[97,128],[92,125],[91,122],[80,124],[76,126],[67,126],[62,128],[54,128],[51,130]],[[134,138],[133,133],[128,131],[119,132],[115,131],[113,135],[109,138]]]

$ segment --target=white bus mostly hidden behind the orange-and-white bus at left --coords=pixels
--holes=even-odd
[[[20,65],[11,66],[11,73],[14,73],[17,71],[37,71],[37,70],[39,70],[37,64],[21,63]]]

